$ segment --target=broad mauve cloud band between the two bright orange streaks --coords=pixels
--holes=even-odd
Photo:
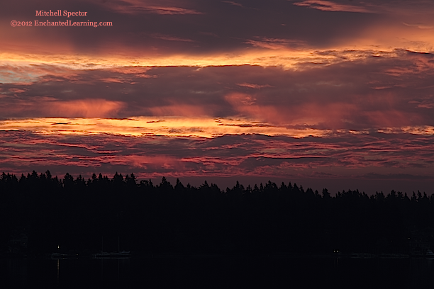
[[[244,118],[287,128],[299,125],[355,131],[434,125],[430,113],[434,101],[432,54],[405,50],[317,54],[330,61],[299,63],[296,70],[244,65],[60,72],[48,65],[43,69],[20,67],[17,71],[22,74],[43,75],[26,85],[1,84],[0,114],[4,118],[91,115],[90,108],[88,113],[53,114],[54,103],[104,96],[106,110],[101,108],[100,116],[116,118],[200,115]],[[79,103],[77,106],[87,111]],[[67,113],[67,109],[58,112]]]

